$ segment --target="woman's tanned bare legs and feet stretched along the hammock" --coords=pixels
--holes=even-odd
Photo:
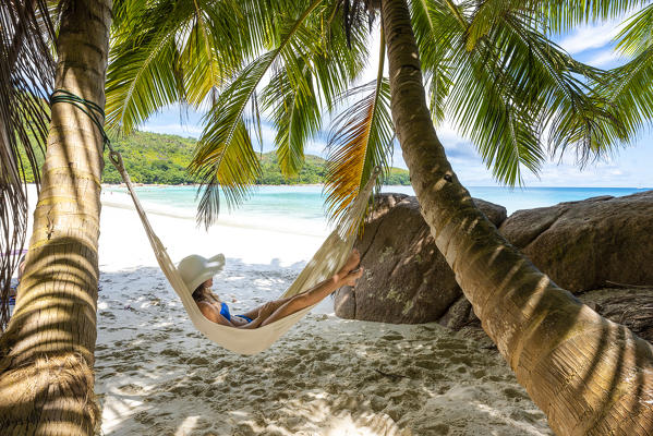
[[[316,304],[340,287],[346,284],[355,284],[356,279],[363,275],[362,268],[354,270],[359,266],[360,262],[361,255],[359,254],[358,250],[353,250],[349,255],[344,266],[334,277],[317,283],[307,291],[288,299],[283,299],[283,303],[276,308],[273,314],[269,315],[269,317],[261,323],[261,326],[274,323],[275,320],[281,319],[285,316],[299,312],[304,307]],[[274,304],[279,301],[280,300],[277,300],[270,303]]]

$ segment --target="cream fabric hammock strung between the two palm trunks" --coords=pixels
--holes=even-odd
[[[234,353],[245,355],[256,354],[269,348],[277,339],[286,334],[306,313],[309,313],[311,308],[314,307],[305,307],[275,323],[254,329],[240,329],[223,326],[207,319],[199,311],[199,307],[197,307],[197,304],[191,295],[191,291],[186,288],[181,275],[177,270],[176,265],[170,259],[170,256],[168,256],[166,247],[152,229],[145,210],[143,209],[141,202],[134,192],[130,177],[124,169],[122,156],[120,156],[119,153],[111,150],[110,159],[116,169],[120,172],[130,192],[130,195],[134,202],[134,207],[138,213],[138,217],[141,217],[145,233],[147,233],[149,244],[154,250],[154,254],[161,270],[172,286],[172,289],[174,289],[177,294],[180,296],[181,302],[183,303],[183,306],[195,328],[208,339]],[[315,253],[311,262],[309,262],[302,272],[294,280],[294,282],[281,295],[282,298],[295,295],[314,287],[318,282],[325,280],[327,277],[331,277],[334,272],[336,272],[344,264],[344,261],[347,261],[347,257],[349,256],[356,238],[355,227],[360,222],[360,218],[365,211],[370,194],[372,193],[376,177],[379,172],[380,171],[378,168],[374,170],[370,181],[359,193],[359,196],[347,211],[344,219],[342,219],[338,225],[337,230],[327,238],[317,253]]]

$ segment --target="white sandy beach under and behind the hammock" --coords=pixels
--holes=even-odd
[[[96,392],[104,435],[551,435],[487,342],[436,325],[332,315],[327,299],[271,349],[204,339],[156,266],[134,210],[104,196]],[[173,261],[227,256],[215,281],[238,313],[279,295],[325,234],[150,214]],[[302,229],[298,229],[302,232]]]

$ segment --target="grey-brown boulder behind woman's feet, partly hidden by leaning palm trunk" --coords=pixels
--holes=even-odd
[[[476,198],[474,202],[495,226],[506,219],[503,206]],[[415,197],[377,197],[356,247],[365,275],[355,290],[346,287],[337,292],[336,315],[342,318],[427,323],[440,318],[462,294]]]

